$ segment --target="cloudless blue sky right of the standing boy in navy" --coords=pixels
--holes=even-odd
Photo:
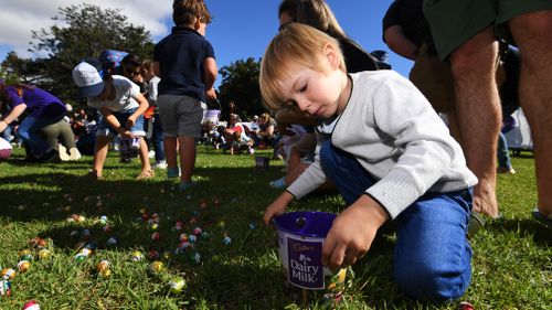
[[[367,51],[385,50],[393,68],[407,76],[412,62],[391,52],[381,40],[382,18],[392,0],[327,1],[349,36]],[[238,58],[258,58],[278,29],[279,0],[206,1],[213,15],[206,38],[215,49],[219,66]]]

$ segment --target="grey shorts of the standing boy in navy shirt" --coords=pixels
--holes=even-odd
[[[157,106],[167,137],[201,137],[204,103],[189,96],[161,95],[157,98]]]

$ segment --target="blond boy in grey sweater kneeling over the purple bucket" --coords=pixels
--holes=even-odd
[[[319,136],[315,162],[266,209],[265,223],[330,180],[348,207],[328,233],[325,265],[353,265],[393,220],[397,286],[416,299],[463,296],[477,178],[425,97],[392,71],[347,74],[338,41],[298,23],[268,45],[259,84],[270,109],[315,115]]]

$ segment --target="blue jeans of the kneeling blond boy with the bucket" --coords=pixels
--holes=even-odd
[[[375,183],[353,156],[329,140],[320,149],[320,161],[348,205]],[[469,190],[426,193],[395,218],[393,278],[401,290],[436,301],[464,295],[471,277],[471,247],[466,239],[470,211]]]

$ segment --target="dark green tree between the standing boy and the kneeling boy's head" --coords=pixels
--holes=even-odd
[[[248,57],[223,66],[219,70],[222,76],[219,86],[219,98],[223,106],[222,118],[227,119],[227,106],[234,101],[240,115],[248,117],[266,111],[261,101],[261,89],[258,87],[258,73],[261,61]]]

